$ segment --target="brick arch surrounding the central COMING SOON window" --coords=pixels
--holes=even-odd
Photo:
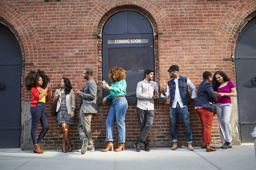
[[[110,5],[109,5],[110,4]],[[85,26],[88,30],[88,36],[97,36],[97,45],[94,47],[95,51],[97,48],[97,69],[98,69],[98,85],[101,86],[102,79],[102,68],[101,68],[101,32],[106,21],[115,13],[124,11],[124,10],[132,10],[140,13],[144,17],[146,17],[154,32],[154,52],[155,52],[155,81],[159,82],[159,48],[158,48],[158,34],[162,35],[163,30],[166,28],[166,23],[168,22],[168,17],[165,14],[165,10],[155,1],[148,2],[146,0],[142,1],[123,1],[123,2],[114,2],[111,0],[106,0],[105,3],[98,3],[91,10],[88,15],[85,23],[89,23],[89,25]],[[102,96],[102,92],[99,92],[99,96]]]

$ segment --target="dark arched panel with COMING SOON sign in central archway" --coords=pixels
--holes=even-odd
[[[123,11],[110,17],[103,28],[102,76],[108,84],[111,67],[126,70],[127,97],[136,97],[137,82],[143,80],[146,68],[154,69],[153,30],[141,14]],[[103,89],[103,97],[109,91]]]

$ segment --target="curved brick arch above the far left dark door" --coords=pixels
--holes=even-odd
[[[30,20],[14,5],[0,0],[0,22],[12,30],[20,43],[24,63],[35,63],[41,57],[38,34]]]

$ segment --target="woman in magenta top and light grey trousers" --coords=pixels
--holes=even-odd
[[[217,71],[212,79],[213,90],[217,95],[218,103],[215,105],[219,121],[221,148],[231,148],[232,133],[230,126],[231,99],[237,96],[237,90],[232,81],[223,71]]]

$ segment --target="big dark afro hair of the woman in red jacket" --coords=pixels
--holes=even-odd
[[[41,87],[43,88],[46,87],[46,85],[50,81],[50,78],[46,76],[44,71],[41,71],[40,69],[38,69],[37,72],[30,71],[25,77],[25,87],[27,91],[31,90],[32,87],[37,87],[39,77],[41,77],[43,80],[43,85],[41,85]]]

